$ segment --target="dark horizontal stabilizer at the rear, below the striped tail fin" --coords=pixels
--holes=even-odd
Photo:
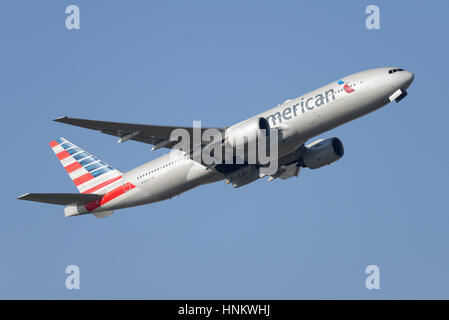
[[[19,200],[37,201],[51,204],[71,205],[87,204],[92,201],[100,200],[101,194],[82,194],[82,193],[27,193],[18,197]]]

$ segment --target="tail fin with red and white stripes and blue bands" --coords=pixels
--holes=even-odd
[[[70,141],[50,142],[70,179],[81,193],[103,194],[122,183],[122,173]]]

